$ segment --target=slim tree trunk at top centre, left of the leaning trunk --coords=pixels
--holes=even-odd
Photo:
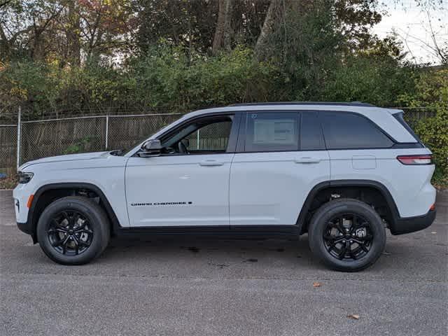
[[[219,0],[218,23],[211,52],[218,54],[222,48],[230,48],[233,0]]]

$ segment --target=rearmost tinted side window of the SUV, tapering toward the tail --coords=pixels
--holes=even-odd
[[[393,141],[377,125],[349,112],[320,113],[328,149],[389,148]]]

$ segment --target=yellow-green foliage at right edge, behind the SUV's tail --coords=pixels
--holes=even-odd
[[[414,94],[402,94],[399,99],[409,107],[435,111],[434,117],[421,120],[414,130],[433,152],[435,183],[448,186],[448,69],[422,72],[415,85]]]

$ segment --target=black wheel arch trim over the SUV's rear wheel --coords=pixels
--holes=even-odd
[[[384,184],[374,181],[374,180],[332,180],[332,181],[323,181],[314,186],[308,193],[307,199],[305,200],[302,209],[300,210],[300,214],[297,218],[297,226],[299,227],[300,235],[307,232],[309,217],[312,214],[314,203],[318,200],[318,197],[321,195],[325,195],[337,190],[375,190],[379,195],[381,195],[382,200],[380,202],[384,202],[386,204],[388,214],[388,223],[389,225],[394,225],[394,223],[400,218],[400,213],[398,212],[398,207],[395,204],[395,200],[389,190],[384,186]],[[327,200],[326,202],[329,202]],[[325,202],[320,202],[318,205],[320,207],[321,204]]]

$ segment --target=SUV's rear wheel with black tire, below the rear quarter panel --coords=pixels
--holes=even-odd
[[[351,223],[357,226],[352,227]],[[386,246],[386,230],[377,212],[368,204],[350,198],[323,204],[311,218],[308,237],[313,254],[331,269],[343,272],[370,267]],[[351,238],[360,244],[353,243]]]

